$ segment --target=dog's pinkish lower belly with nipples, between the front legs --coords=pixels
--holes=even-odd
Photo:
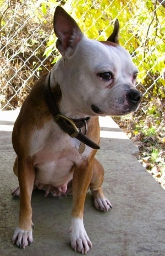
[[[34,159],[35,186],[53,195],[67,192],[68,183],[73,178],[74,165],[81,164],[82,155],[75,148],[64,150],[45,149]]]

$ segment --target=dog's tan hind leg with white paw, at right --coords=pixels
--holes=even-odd
[[[103,194],[101,185],[103,182],[104,169],[100,162],[94,158],[94,170],[90,183],[90,189],[94,197],[94,204],[96,209],[101,211],[108,211],[112,208],[111,203]]]

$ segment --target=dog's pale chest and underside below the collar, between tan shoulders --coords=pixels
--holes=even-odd
[[[31,138],[30,155],[36,168],[35,184],[51,184],[54,187],[68,183],[73,177],[72,168],[89,157],[92,149],[86,146],[79,153],[80,141],[70,138],[53,119],[40,130],[35,130]]]

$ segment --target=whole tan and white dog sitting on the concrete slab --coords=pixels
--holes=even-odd
[[[20,248],[32,242],[34,188],[45,190],[45,196],[72,193],[71,245],[86,254],[92,247],[83,222],[87,189],[96,209],[112,208],[101,188],[103,167],[95,158],[100,148],[98,116],[126,115],[138,109],[138,69],[119,45],[118,20],[107,41],[87,38],[62,7],[56,8],[53,25],[62,57],[32,88],[12,133],[17,154],[13,170],[19,180],[12,194],[20,197],[12,240]]]

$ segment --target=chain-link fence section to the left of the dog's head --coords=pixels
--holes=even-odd
[[[54,56],[43,56],[52,30],[52,16],[41,12],[40,1],[4,1],[1,12],[2,110],[20,107],[41,72],[51,68]],[[45,24],[46,21],[46,24]]]

